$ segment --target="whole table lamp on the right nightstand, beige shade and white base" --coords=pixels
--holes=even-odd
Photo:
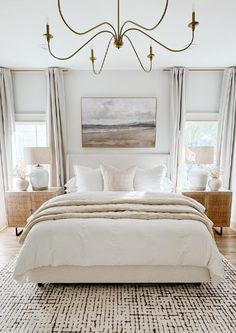
[[[214,147],[186,147],[185,163],[192,165],[188,174],[189,188],[191,190],[204,191],[206,189],[208,171],[202,165],[214,163]]]

